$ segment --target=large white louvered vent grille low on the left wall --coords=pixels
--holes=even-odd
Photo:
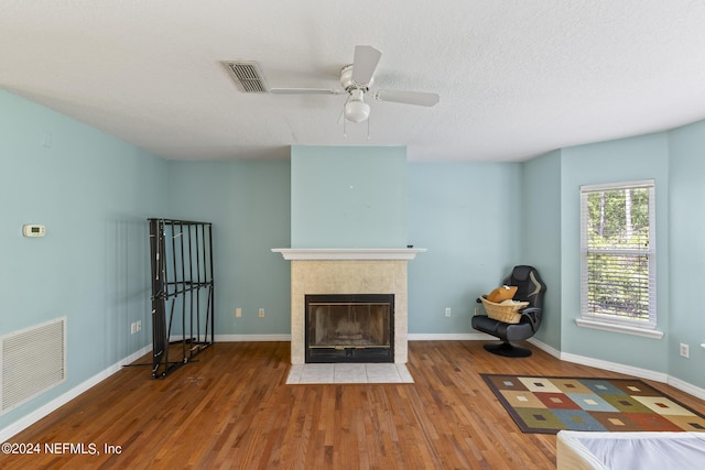
[[[66,380],[66,317],[1,337],[0,364],[0,414]]]

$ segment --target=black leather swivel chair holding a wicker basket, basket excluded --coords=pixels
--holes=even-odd
[[[531,350],[513,346],[510,341],[529,339],[539,330],[546,286],[541,281],[539,272],[532,266],[514,266],[502,284],[517,286],[513,299],[529,303],[527,307],[518,310],[521,314],[519,323],[507,324],[489,318],[487,315],[476,315],[473,317],[473,328],[496,336],[502,341],[485,345],[485,349],[489,352],[507,358],[527,358],[531,356]],[[478,298],[477,302],[480,303],[480,299]]]

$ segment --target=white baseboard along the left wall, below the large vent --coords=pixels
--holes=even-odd
[[[32,413],[28,414],[26,416],[23,416],[22,418],[20,418],[17,422],[12,423],[10,426],[0,429],[0,442],[4,442],[6,440],[10,439],[15,434],[18,434],[21,430],[30,427],[34,423],[36,423],[40,419],[42,419],[44,416],[46,416],[50,413],[58,409],[59,407],[62,407],[66,403],[70,402],[72,400],[74,400],[75,397],[80,395],[82,393],[84,393],[87,390],[89,390],[90,387],[93,387],[93,386],[97,385],[98,383],[102,382],[104,380],[108,379],[110,375],[112,375],[113,373],[116,373],[120,369],[122,369],[123,365],[127,365],[129,363],[132,363],[132,362],[137,361],[142,356],[149,353],[151,350],[152,350],[152,345],[145,346],[144,348],[140,349],[139,351],[133,352],[132,354],[128,356],[127,358],[124,358],[124,359],[116,362],[115,364],[110,365],[108,369],[106,369],[106,370],[104,370],[101,372],[98,372],[96,375],[91,376],[90,379],[79,383],[78,385],[76,385],[75,387],[69,390],[68,392],[57,396],[56,398],[52,400],[51,402],[48,402],[44,406],[33,411]]]

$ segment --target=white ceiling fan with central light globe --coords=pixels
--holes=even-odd
[[[392,101],[404,105],[431,107],[438,102],[438,94],[423,91],[376,90],[370,91],[375,79],[375,70],[382,53],[372,46],[355,47],[352,64],[340,69],[340,86],[335,88],[270,88],[276,95],[340,95],[348,94],[343,107],[343,116],[350,122],[364,122],[370,116],[370,106],[365,102],[366,95],[379,101]]]

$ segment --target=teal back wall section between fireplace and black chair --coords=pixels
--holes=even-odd
[[[409,332],[468,334],[475,299],[521,258],[521,165],[408,168],[409,242],[429,250],[409,262]]]

